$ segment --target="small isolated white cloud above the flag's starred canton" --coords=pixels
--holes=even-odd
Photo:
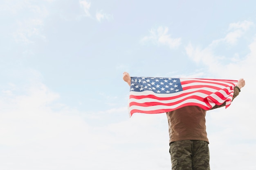
[[[181,44],[181,38],[171,38],[171,35],[168,34],[168,27],[159,26],[157,30],[151,29],[149,36],[145,36],[141,39],[142,42],[151,41],[154,44],[166,45],[170,48],[176,48]]]

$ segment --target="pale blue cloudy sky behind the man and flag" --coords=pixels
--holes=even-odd
[[[245,79],[207,111],[212,170],[255,170],[254,0],[0,0],[0,169],[169,170],[131,76]]]

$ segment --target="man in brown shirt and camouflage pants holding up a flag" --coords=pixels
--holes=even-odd
[[[131,85],[128,72],[123,79]],[[240,78],[234,89],[233,99],[245,86]],[[232,100],[233,100],[232,99]],[[212,109],[225,106],[215,105]],[[198,106],[186,106],[166,113],[169,125],[169,144],[172,170],[210,170],[209,140],[207,138],[205,115],[206,110]]]

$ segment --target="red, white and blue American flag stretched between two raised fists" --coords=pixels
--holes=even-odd
[[[164,113],[195,105],[209,110],[231,104],[237,81],[202,78],[131,77],[129,114]]]

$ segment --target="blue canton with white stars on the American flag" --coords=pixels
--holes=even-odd
[[[158,94],[181,92],[180,78],[131,77],[130,91],[150,90]]]

